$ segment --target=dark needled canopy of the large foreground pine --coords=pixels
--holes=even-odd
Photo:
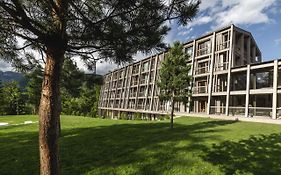
[[[116,63],[130,61],[137,51],[165,46],[167,20],[187,24],[198,10],[195,0],[168,1],[0,0],[0,54],[16,66],[35,62],[15,59],[18,51],[48,46],[86,62],[95,53]],[[18,44],[18,38],[24,43]]]

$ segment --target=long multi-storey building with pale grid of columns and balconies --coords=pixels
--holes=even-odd
[[[261,52],[250,32],[231,25],[184,46],[190,55],[192,97],[188,104],[176,104],[176,115],[278,118],[281,60],[262,62]],[[165,54],[159,53],[106,74],[99,101],[100,115],[167,114],[170,103],[159,100],[156,85]]]

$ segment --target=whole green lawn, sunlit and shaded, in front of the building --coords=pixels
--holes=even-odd
[[[36,116],[0,122],[37,121]],[[281,126],[178,118],[102,120],[63,116],[61,174],[276,174],[281,172]],[[38,123],[0,127],[0,174],[38,174]]]

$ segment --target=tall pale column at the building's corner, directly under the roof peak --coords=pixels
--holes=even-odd
[[[229,115],[229,99],[230,99],[230,85],[231,85],[231,67],[234,53],[234,43],[235,43],[235,33],[234,26],[231,25],[230,29],[230,46],[229,46],[229,56],[228,56],[228,73],[227,73],[227,93],[226,93],[226,105],[225,105],[225,115]]]

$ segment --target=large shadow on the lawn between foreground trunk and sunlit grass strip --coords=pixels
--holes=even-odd
[[[63,174],[183,174],[197,163],[192,153],[204,150],[206,139],[219,139],[215,132],[222,129],[216,127],[234,122],[175,124],[172,131],[169,123],[67,130],[61,140]]]

